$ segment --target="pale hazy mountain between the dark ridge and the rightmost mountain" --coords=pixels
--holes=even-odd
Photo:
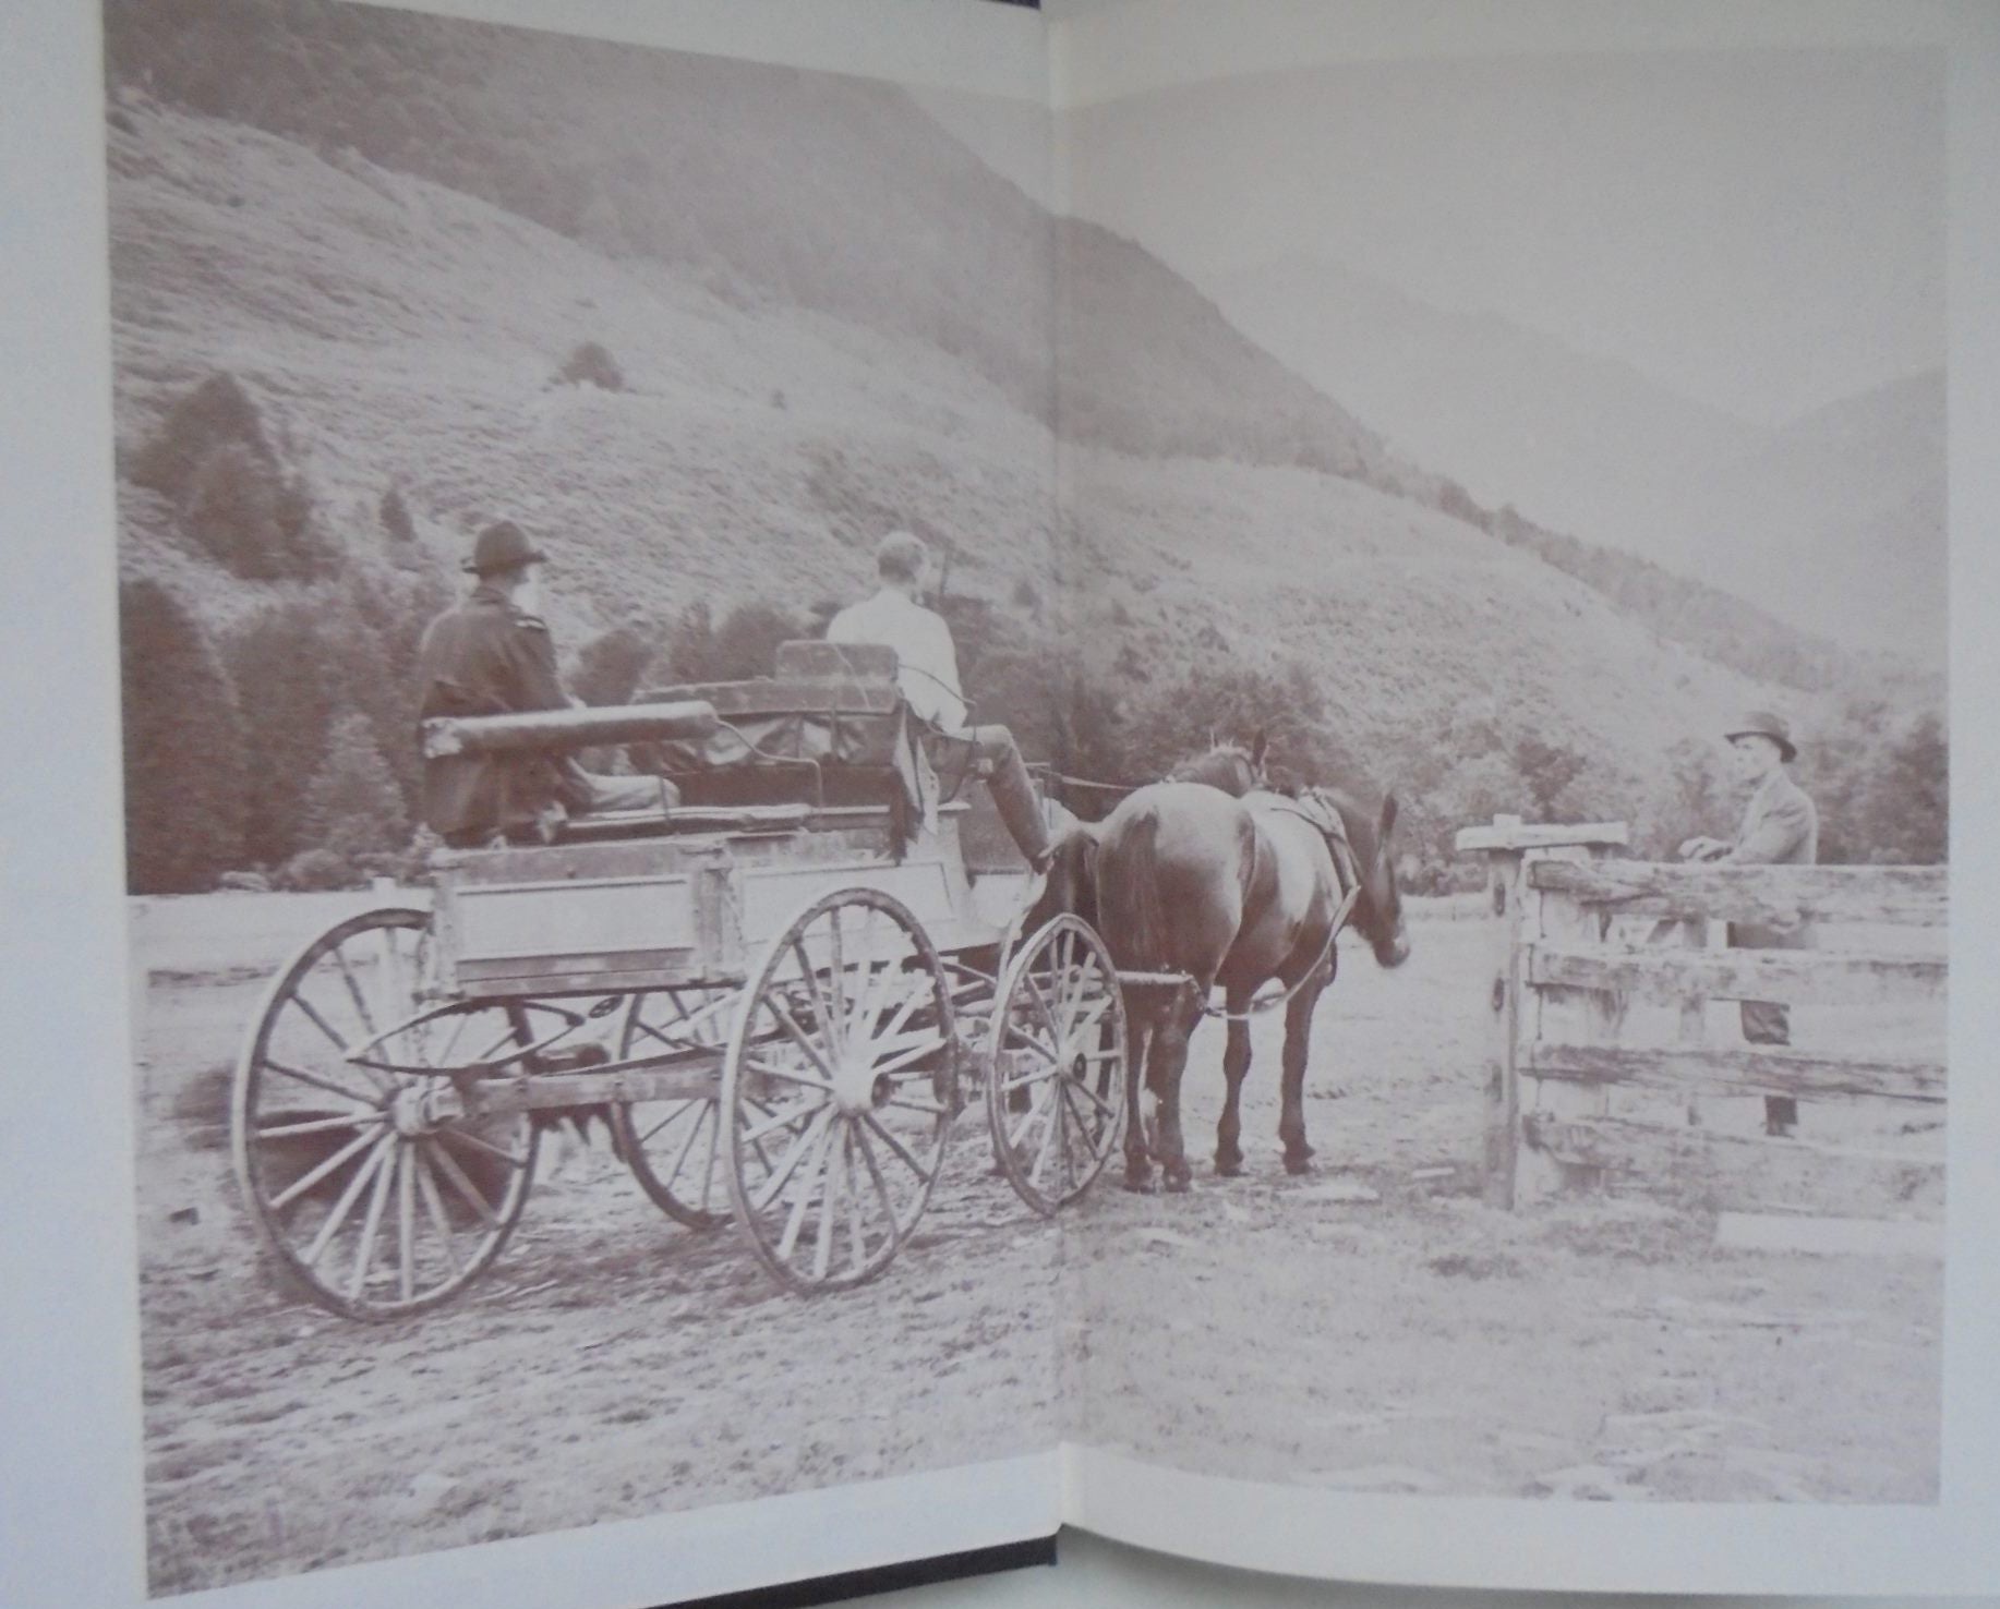
[[[1484,504],[1640,548],[1636,518],[1766,432],[1498,314],[1446,312],[1334,262],[1212,284],[1236,328]]]

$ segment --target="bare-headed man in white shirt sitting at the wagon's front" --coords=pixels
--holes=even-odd
[[[910,532],[890,532],[876,550],[876,572],[880,590],[836,614],[826,626],[826,640],[896,650],[896,684],[910,712],[930,728],[932,750],[960,748],[968,754],[1028,865],[1048,871],[1054,853],[1048,823],[1020,746],[1004,726],[966,726],[952,628],[944,616],[916,602],[930,572],[930,550]]]

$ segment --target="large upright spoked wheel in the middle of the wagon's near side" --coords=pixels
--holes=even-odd
[[[874,889],[814,899],[750,975],[722,1063],[724,1177],[764,1267],[794,1291],[888,1267],[958,1105],[930,937]]]

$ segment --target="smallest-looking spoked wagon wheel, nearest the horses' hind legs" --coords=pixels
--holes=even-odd
[[[1068,1205],[1118,1147],[1124,989],[1090,923],[1058,915],[1016,951],[986,1041],[986,1123],[1008,1183],[1038,1213]]]

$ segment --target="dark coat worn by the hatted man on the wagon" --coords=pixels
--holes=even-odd
[[[568,708],[548,626],[494,586],[476,588],[430,622],[416,676],[420,720]],[[452,754],[424,762],[424,819],[446,841],[532,825],[564,792],[558,762],[538,754]]]

